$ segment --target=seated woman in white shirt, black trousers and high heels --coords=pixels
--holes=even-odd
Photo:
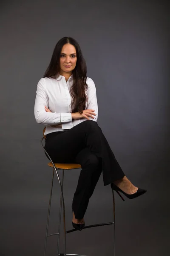
[[[101,173],[104,186],[111,184],[118,194],[132,199],[146,192],[127,179],[99,128],[96,87],[86,73],[77,41],[60,39],[37,84],[34,106],[36,121],[46,125],[45,150],[54,163],[82,166],[72,203],[72,224],[78,230],[85,226],[83,217]]]

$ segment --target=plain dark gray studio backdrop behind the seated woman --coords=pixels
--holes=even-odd
[[[116,256],[169,255],[170,19],[168,1],[3,1],[0,8],[1,255],[41,256],[52,169],[34,119],[37,82],[57,41],[75,38],[97,90],[98,124],[127,177],[147,193],[116,195]],[[67,229],[79,169],[65,175]],[[55,182],[50,232],[56,232]],[[112,220],[102,176],[86,224]],[[56,255],[56,237],[47,255]],[[112,255],[112,227],[68,234],[68,253]],[[62,250],[61,250],[62,252]]]

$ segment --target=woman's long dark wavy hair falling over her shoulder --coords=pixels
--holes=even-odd
[[[54,48],[54,52],[51,57],[50,64],[45,71],[43,77],[56,77],[59,75],[59,61],[60,53],[64,44],[72,44],[76,48],[77,53],[77,63],[76,67],[72,71],[73,75],[73,85],[71,86],[71,96],[72,100],[72,113],[79,111],[82,114],[82,111],[85,110],[86,95],[85,90],[87,90],[88,85],[86,84],[87,79],[87,66],[85,59],[82,55],[82,51],[79,47],[79,44],[74,38],[63,37],[61,38]]]

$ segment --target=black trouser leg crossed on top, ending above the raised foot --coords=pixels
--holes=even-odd
[[[51,139],[50,139],[51,137]],[[69,131],[47,137],[45,147],[56,163],[74,163],[75,157],[87,147],[91,153],[102,160],[104,185],[125,176],[117,162],[101,128],[92,120],[74,126]]]

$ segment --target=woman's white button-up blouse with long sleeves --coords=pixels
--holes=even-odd
[[[93,109],[96,116],[94,118],[89,117],[93,121],[97,121],[98,117],[98,105],[96,98],[96,87],[94,81],[91,78],[87,78],[86,83],[88,89],[85,91],[87,95],[87,101],[85,109]],[[37,84],[34,116],[37,123],[46,125],[45,134],[49,134],[54,131],[68,131],[80,122],[88,119],[81,118],[72,120],[71,117],[71,93],[70,88],[73,84],[72,76],[69,77],[66,82],[65,77],[59,75],[54,78],[42,78]],[[51,110],[51,112],[45,111],[45,106]]]

